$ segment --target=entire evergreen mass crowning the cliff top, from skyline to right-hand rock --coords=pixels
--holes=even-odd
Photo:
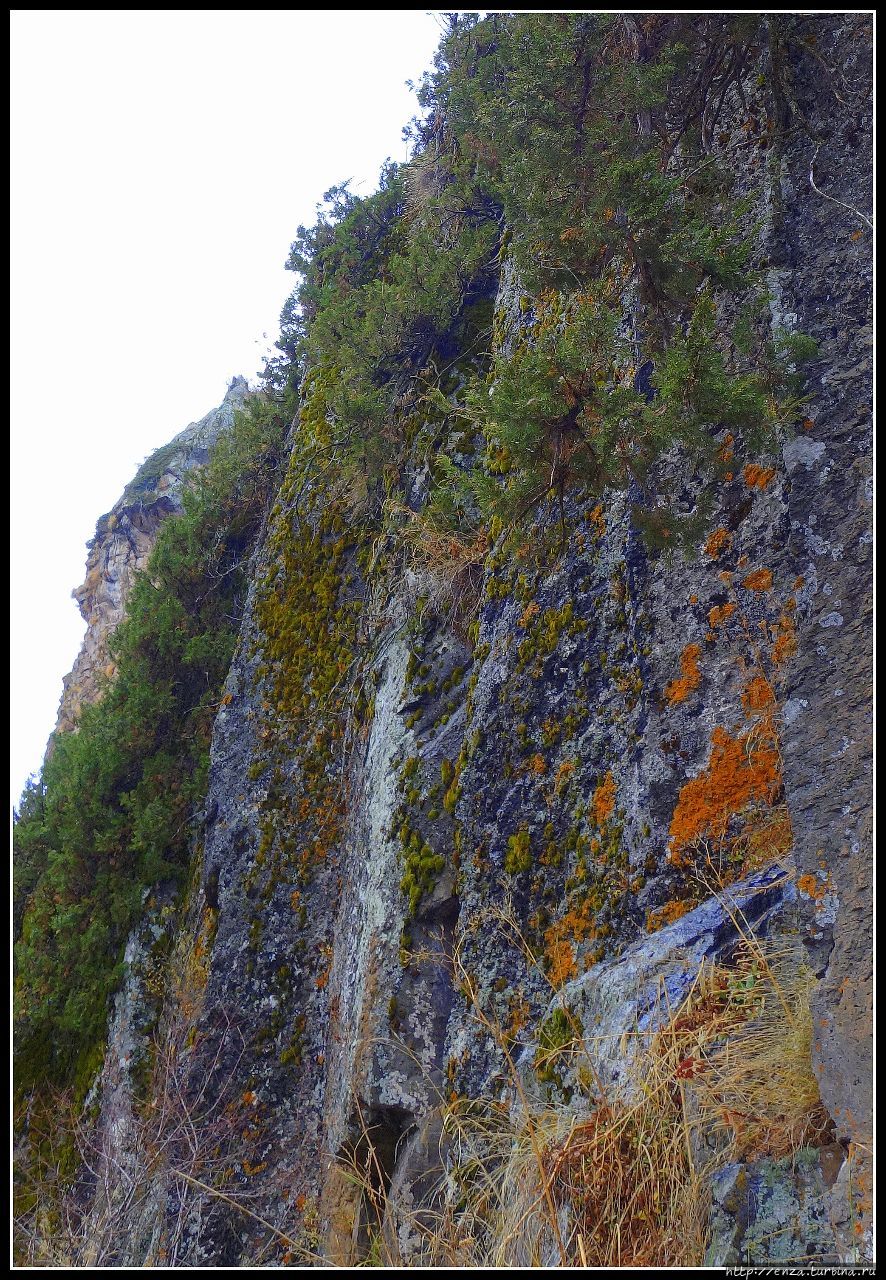
[[[768,333],[758,193],[713,154],[726,124],[721,148],[777,141],[735,119],[771,36],[753,15],[452,15],[410,164],[367,200],[333,188],[289,257],[286,342],[334,374],[335,465],[382,494],[425,461],[425,518],[471,535],[615,486],[667,536],[664,453],[713,486],[725,431],[771,448],[814,344]],[[506,262],[521,315],[470,329]]]

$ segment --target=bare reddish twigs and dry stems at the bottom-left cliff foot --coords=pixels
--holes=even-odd
[[[292,1256],[297,1251],[300,1261],[312,1257],[256,1212],[256,1100],[238,1088],[246,1042],[224,1011],[214,1052],[198,1074],[191,1069],[206,938],[201,928],[188,948],[187,937],[170,961],[170,1000],[152,1038],[145,1096],[131,1079],[110,1091],[113,1110],[96,1116],[59,1094],[46,1100],[51,1126],[28,1126],[20,1175],[31,1196],[13,1224],[20,1265],[119,1266],[125,1245],[141,1238],[152,1240],[143,1265],[184,1266],[195,1236],[222,1211],[243,1226],[256,1224],[260,1236]],[[44,1167],[37,1169],[33,1148],[41,1140]]]

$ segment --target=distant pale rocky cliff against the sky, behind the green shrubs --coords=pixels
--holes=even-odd
[[[125,614],[132,580],[147,564],[160,525],[181,512],[188,471],[205,465],[247,394],[246,379],[234,378],[219,407],[151,454],[119,502],[99,520],[95,538],[87,544],[86,580],[73,593],[87,631],[64,678],[56,733],[76,726],[81,709],[99,696],[101,677],[114,675],[108,640]]]

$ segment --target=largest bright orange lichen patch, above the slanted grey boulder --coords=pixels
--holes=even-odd
[[[741,737],[718,724],[711,744],[707,768],[680,792],[671,819],[671,861],[679,863],[680,851],[695,840],[722,840],[735,814],[752,801],[771,805],[781,785],[778,750],[766,721]]]

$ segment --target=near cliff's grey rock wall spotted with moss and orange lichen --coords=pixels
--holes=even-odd
[[[192,883],[177,908],[149,900],[111,1018],[92,1257],[415,1262],[440,1215],[476,1207],[467,1157],[504,1133],[499,1169],[535,1116],[560,1217],[510,1262],[580,1261],[595,1219],[568,1198],[570,1143],[597,1161],[593,1132],[644,1096],[708,1116],[689,1132],[709,1262],[868,1256],[871,31],[845,15],[816,33],[842,72],[790,82],[801,127],[736,150],[737,108],[720,124],[764,193],[771,323],[818,343],[809,398],[777,454],[721,433],[734,466],[693,554],[650,550],[636,494],[608,492],[539,516],[516,554],[403,566],[353,486],[311,479],[293,425]],[[769,73],[763,55],[746,69],[752,115]],[[519,342],[510,269],[494,308]],[[694,507],[676,453],[656,480]],[[151,512],[172,489],[157,480]],[[142,509],[124,498],[100,525],[90,563],[110,581],[85,609],[119,609]],[[157,940],[172,961],[140,1021]],[[717,1057],[730,1036],[737,1078]],[[677,1157],[657,1158],[670,1179]]]

